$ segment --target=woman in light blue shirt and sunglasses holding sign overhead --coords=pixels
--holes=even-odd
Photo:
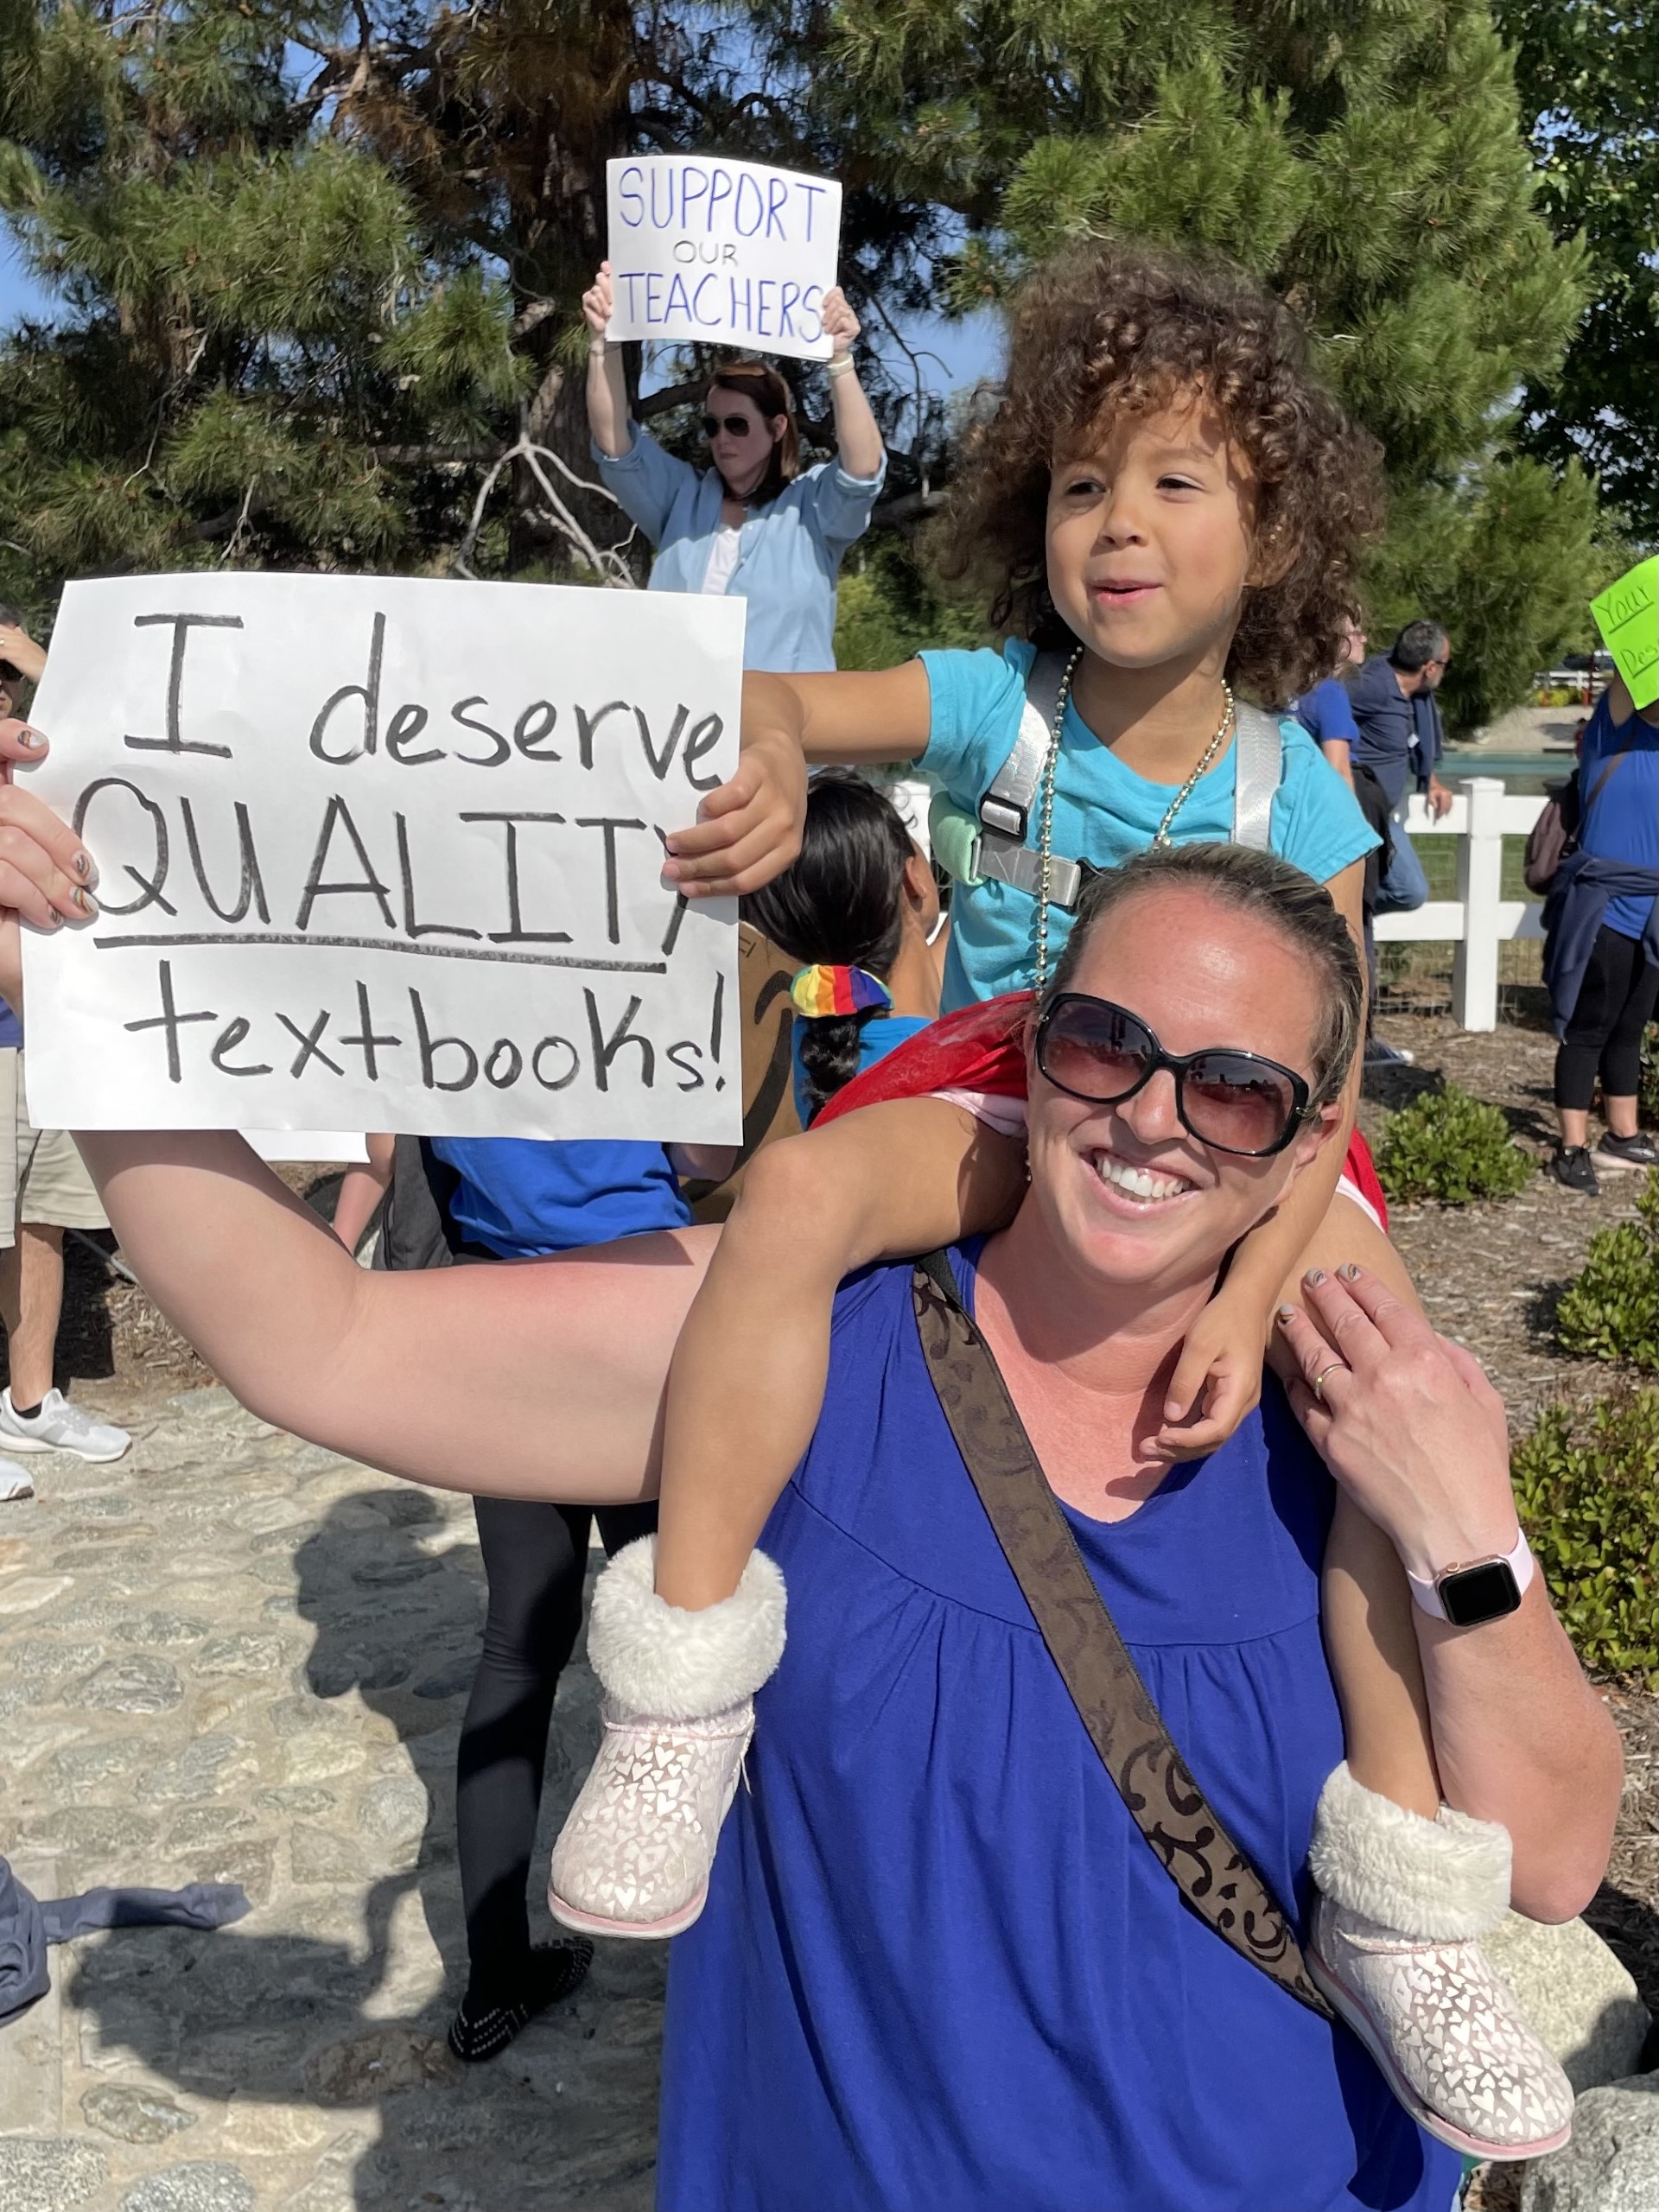
[[[887,453],[858,385],[858,316],[841,288],[825,294],[834,343],[825,374],[836,458],[801,469],[790,387],[763,361],[723,363],[703,400],[708,471],[666,453],[628,411],[622,349],[606,338],[611,263],[582,294],[588,345],[588,429],[599,476],[657,546],[653,591],[737,593],[748,599],[743,664],[779,672],[834,668],[836,571],[869,524]]]

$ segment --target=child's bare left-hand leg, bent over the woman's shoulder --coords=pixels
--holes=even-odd
[[[843,1276],[995,1228],[1022,1190],[1024,1144],[927,1097],[867,1106],[750,1161],[668,1374],[666,1604],[701,1610],[737,1590],[818,1422]]]

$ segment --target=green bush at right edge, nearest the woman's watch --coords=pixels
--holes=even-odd
[[[1511,1453],[1515,1509],[1579,1659],[1659,1666],[1659,1391],[1624,1383],[1588,1409],[1551,1405]]]

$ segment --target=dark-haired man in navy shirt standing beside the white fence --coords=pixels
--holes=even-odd
[[[1376,891],[1367,885],[1365,956],[1376,980],[1371,922],[1378,914],[1413,914],[1429,898],[1416,845],[1405,830],[1411,792],[1427,796],[1436,818],[1451,805],[1451,792],[1436,776],[1444,748],[1436,690],[1451,664],[1451,639],[1438,622],[1407,622],[1387,653],[1374,653],[1345,679],[1356,737],[1349,739],[1354,787],[1360,779],[1380,787],[1389,814],[1387,858]],[[1383,1037],[1367,1037],[1365,1064],[1389,1066],[1411,1055]]]

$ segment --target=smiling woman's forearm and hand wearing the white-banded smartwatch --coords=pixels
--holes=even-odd
[[[1360,1270],[1310,1283],[1307,1305],[1318,1327],[1294,1307],[1279,1316],[1301,1369],[1292,1407],[1407,1573],[1504,1557],[1517,1535],[1509,1433],[1480,1365]],[[1413,1621],[1447,1803],[1509,1829],[1517,1911],[1571,1920],[1606,1869],[1621,1750],[1542,1577],[1517,1613],[1478,1628],[1420,1606]]]

